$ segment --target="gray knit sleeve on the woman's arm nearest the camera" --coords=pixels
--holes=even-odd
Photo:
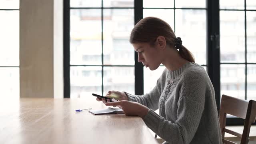
[[[204,111],[206,72],[190,69],[184,73],[178,98],[176,121],[168,121],[153,110],[143,118],[146,125],[170,144],[189,144],[197,132]],[[168,104],[166,104],[168,105]],[[168,109],[168,107],[165,107]],[[170,109],[170,108],[169,108]],[[168,113],[166,113],[168,115]]]

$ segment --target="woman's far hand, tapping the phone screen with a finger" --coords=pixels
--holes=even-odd
[[[115,100],[128,100],[128,96],[126,96],[126,94],[124,92],[118,92],[118,91],[108,91],[108,93],[106,94],[106,97],[108,98],[114,98]],[[96,100],[98,101],[102,101],[104,104],[107,102],[110,102],[110,100],[106,100],[105,98],[96,98]]]

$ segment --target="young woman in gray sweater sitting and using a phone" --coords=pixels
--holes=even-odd
[[[138,62],[150,70],[156,70],[160,64],[166,69],[147,94],[109,91],[106,96],[114,93],[118,102],[97,100],[106,106],[119,106],[126,115],[140,116],[166,141],[164,144],[222,143],[210,78],[172,28],[159,18],[143,18],[134,26],[130,43],[138,52]],[[157,109],[160,115],[154,112]]]

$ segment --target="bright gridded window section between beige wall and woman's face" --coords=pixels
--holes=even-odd
[[[134,0],[70,0],[70,98],[134,93]]]

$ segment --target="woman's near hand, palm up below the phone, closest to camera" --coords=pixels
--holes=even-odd
[[[106,106],[118,106],[122,108],[124,114],[126,116],[140,116],[144,118],[147,115],[149,108],[138,103],[138,102],[131,102],[128,100],[121,100],[118,102],[108,102],[105,104]]]

